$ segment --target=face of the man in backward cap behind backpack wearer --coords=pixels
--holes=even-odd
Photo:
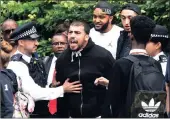
[[[124,9],[121,11],[120,18],[121,18],[121,22],[122,22],[122,25],[125,31],[131,32],[130,20],[134,16],[137,16],[137,13],[134,12],[133,10]]]

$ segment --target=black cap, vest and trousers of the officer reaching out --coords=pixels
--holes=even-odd
[[[14,41],[18,41],[20,39],[24,40],[34,40],[39,38],[37,34],[35,24],[33,22],[23,25],[20,28],[17,28],[12,34],[11,39]],[[43,63],[36,59],[34,56],[31,58],[30,63],[25,61],[22,57],[22,54],[15,54],[11,58],[12,61],[19,61],[24,63],[29,70],[29,75],[32,77],[34,82],[41,87],[46,86],[47,84],[47,75],[45,73],[45,68]],[[31,88],[31,87],[30,87]],[[48,111],[48,101],[36,101],[34,112],[30,115],[33,118],[42,118],[49,117],[51,114]]]

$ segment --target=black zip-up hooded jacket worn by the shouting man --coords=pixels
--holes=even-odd
[[[67,78],[80,81],[83,90],[80,94],[65,94],[58,99],[59,117],[97,117],[101,115],[106,87],[95,86],[94,81],[101,76],[112,80],[114,58],[106,49],[95,45],[89,39],[80,56],[73,56],[68,48],[56,63],[56,80],[61,84]]]

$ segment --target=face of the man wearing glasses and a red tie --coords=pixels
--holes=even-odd
[[[54,53],[62,53],[68,47],[67,36],[56,34],[52,38],[52,51]]]

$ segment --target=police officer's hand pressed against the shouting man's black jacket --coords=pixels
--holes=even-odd
[[[80,81],[69,82],[69,78],[64,82],[63,88],[64,92],[66,93],[80,93],[82,90],[82,84]]]

